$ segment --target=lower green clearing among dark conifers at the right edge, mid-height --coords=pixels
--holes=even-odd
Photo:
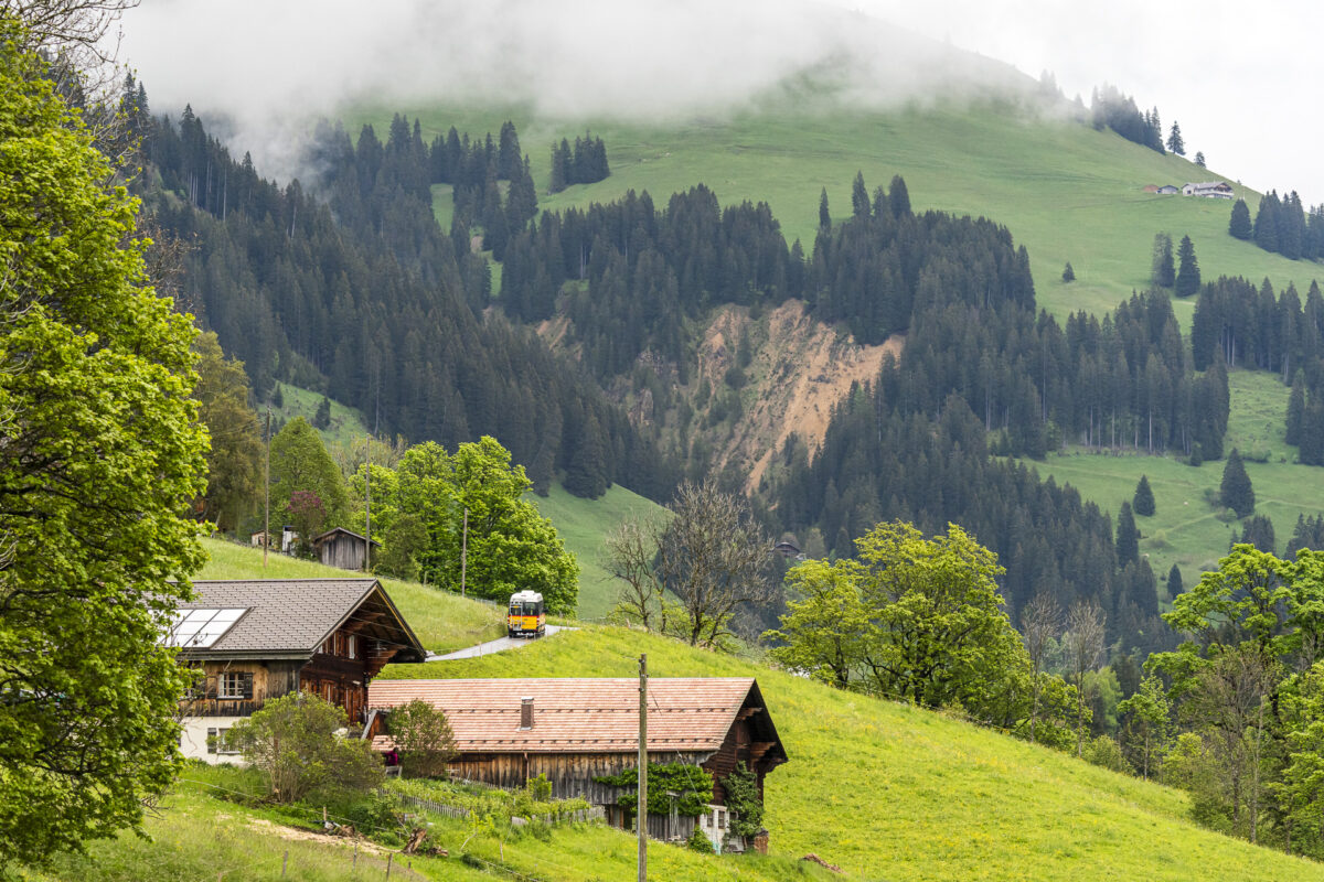
[[[1242,456],[1266,461],[1246,461],[1255,489],[1255,514],[1274,522],[1276,551],[1283,554],[1292,537],[1296,518],[1324,509],[1324,468],[1296,463],[1296,450],[1283,440],[1288,389],[1274,374],[1234,370],[1227,376],[1231,417],[1223,450],[1235,447]],[[1160,600],[1170,600],[1162,590],[1168,571],[1176,563],[1185,587],[1200,574],[1217,569],[1231,542],[1241,538],[1242,524],[1210,497],[1217,499],[1226,460],[1207,461],[1193,468],[1174,456],[1090,451],[1071,447],[1066,454],[1050,454],[1045,461],[1026,460],[1041,477],[1071,484],[1086,500],[1116,513],[1135,496],[1140,476],[1149,479],[1155,513],[1136,517],[1140,551],[1160,582]]]

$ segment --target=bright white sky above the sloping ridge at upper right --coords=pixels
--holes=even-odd
[[[1038,77],[1067,97],[1107,81],[1176,119],[1186,155],[1253,189],[1324,202],[1317,0],[830,0]]]

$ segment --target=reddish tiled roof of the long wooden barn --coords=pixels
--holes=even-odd
[[[649,680],[649,750],[719,750],[753,688],[752,677]],[[618,754],[639,742],[638,689],[633,677],[373,680],[368,706],[421,698],[446,713],[462,752]],[[523,698],[534,700],[532,729],[519,727]]]

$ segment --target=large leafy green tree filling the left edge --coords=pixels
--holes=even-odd
[[[142,822],[188,674],[158,645],[203,562],[191,319],[136,202],[0,15],[0,871]]]

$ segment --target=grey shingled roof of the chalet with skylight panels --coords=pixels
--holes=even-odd
[[[246,610],[211,647],[180,651],[187,659],[306,659],[356,615],[365,636],[404,645],[397,661],[428,655],[377,579],[250,579],[193,582],[196,600],[180,610]]]

